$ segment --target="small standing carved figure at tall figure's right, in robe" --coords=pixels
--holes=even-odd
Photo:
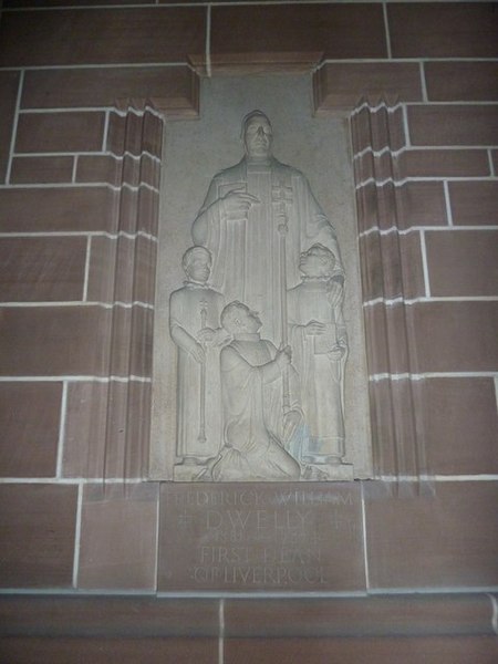
[[[343,388],[347,334],[344,289],[335,259],[315,243],[301,253],[302,281],[289,290],[289,336],[301,382],[304,437],[301,460],[340,464],[344,457]]]

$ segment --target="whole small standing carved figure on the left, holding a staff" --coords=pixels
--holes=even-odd
[[[207,284],[211,256],[191,247],[183,258],[184,287],[169,298],[169,333],[178,347],[177,449],[184,464],[203,464],[217,455],[221,443],[219,350],[225,304]]]

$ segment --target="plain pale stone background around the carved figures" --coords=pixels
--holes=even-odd
[[[259,108],[271,120],[273,155],[301,170],[334,227],[345,270],[344,319],[350,352],[344,381],[345,460],[350,476],[372,476],[369,382],[349,112],[315,116],[310,73],[217,76],[200,81],[199,118],[164,127],[154,325],[149,477],[172,479],[177,457],[177,349],[169,336],[169,297],[181,287],[181,257],[214,175],[242,154],[241,120]],[[309,240],[311,245],[312,239]],[[308,247],[302,247],[308,249]],[[298,255],[295,262],[298,262]],[[277,266],[276,266],[277,267]],[[289,283],[289,288],[295,286]],[[249,303],[251,304],[251,303]],[[264,320],[263,320],[264,331]],[[271,340],[276,345],[278,339]],[[198,390],[198,386],[195,387]],[[193,396],[195,398],[196,395]],[[220,440],[208,440],[216,456]],[[338,475],[335,479],[346,479]]]

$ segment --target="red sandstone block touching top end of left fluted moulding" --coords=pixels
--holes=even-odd
[[[94,152],[102,149],[104,113],[21,113],[15,152]]]

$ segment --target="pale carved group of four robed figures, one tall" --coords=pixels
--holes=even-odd
[[[170,295],[175,479],[352,478],[336,235],[303,174],[273,157],[262,112],[243,118],[241,138],[246,154],[212,178],[187,281]]]

